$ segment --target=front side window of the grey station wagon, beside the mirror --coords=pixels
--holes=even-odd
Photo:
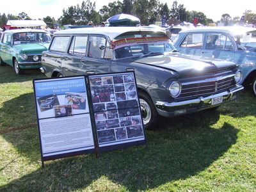
[[[90,48],[88,56],[90,58],[109,58],[109,51],[107,51],[109,45],[107,44],[106,38],[102,36],[90,36],[89,41]],[[106,51],[108,55],[105,55]]]

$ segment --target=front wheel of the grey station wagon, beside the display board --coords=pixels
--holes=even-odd
[[[159,114],[151,98],[147,93],[139,92],[141,115],[143,118],[143,124],[145,129],[157,129],[157,122],[159,120]]]

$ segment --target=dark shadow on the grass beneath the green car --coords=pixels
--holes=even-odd
[[[33,79],[41,79],[46,76],[40,72],[39,69],[29,69],[25,70],[23,75],[17,76],[13,71],[13,67],[10,65],[4,65],[0,67],[0,83],[15,83],[15,82],[24,82]]]

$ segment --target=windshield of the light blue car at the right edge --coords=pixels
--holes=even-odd
[[[243,49],[256,48],[256,31],[248,31],[243,35],[237,35],[234,37],[237,47]]]

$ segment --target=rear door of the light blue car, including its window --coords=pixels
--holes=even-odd
[[[183,54],[201,55],[204,33],[188,33],[176,48]]]

